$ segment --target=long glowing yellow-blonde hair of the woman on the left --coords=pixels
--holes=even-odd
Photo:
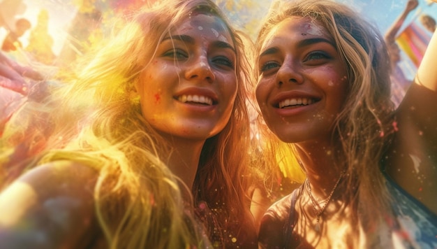
[[[0,143],[8,148],[0,159],[3,180],[10,182],[25,169],[45,162],[81,162],[99,171],[94,199],[110,248],[208,246],[195,221],[201,219],[184,212],[184,190],[163,163],[171,146],[142,118],[139,99],[131,94],[138,73],[151,61],[159,41],[191,12],[220,17],[237,50],[239,90],[233,113],[223,131],[203,146],[191,190],[193,205],[206,203],[213,220],[218,221],[204,224],[211,242],[214,246],[230,243],[241,232],[237,227],[249,205],[249,159],[244,150],[249,148],[245,101],[251,76],[244,39],[209,0],[159,1],[126,17],[127,22],[117,25],[121,30],[105,40],[107,45],[82,60],[91,62],[79,64],[73,80],[54,87],[52,101],[29,103],[10,120]],[[31,118],[22,122],[23,117],[41,113],[45,118],[40,129],[31,127]],[[17,150],[11,148],[17,145],[27,158],[22,166],[13,162]],[[214,241],[216,237],[224,239]]]

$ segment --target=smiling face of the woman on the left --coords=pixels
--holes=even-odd
[[[191,14],[164,36],[140,74],[142,115],[163,135],[204,140],[218,134],[237,95],[235,64],[223,21]]]

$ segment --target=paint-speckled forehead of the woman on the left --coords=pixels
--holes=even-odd
[[[204,13],[191,13],[172,29],[171,34],[201,36],[232,44],[232,37],[225,22],[215,15]]]

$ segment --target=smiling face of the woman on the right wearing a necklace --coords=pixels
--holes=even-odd
[[[260,50],[256,98],[282,141],[329,141],[346,99],[348,79],[327,29],[288,17],[269,31]]]

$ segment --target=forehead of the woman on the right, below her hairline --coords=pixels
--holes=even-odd
[[[323,37],[332,40],[329,31],[316,20],[310,17],[292,16],[288,17],[278,24],[275,24],[265,36],[262,48],[267,48],[274,41],[282,39],[302,40],[305,38]]]

